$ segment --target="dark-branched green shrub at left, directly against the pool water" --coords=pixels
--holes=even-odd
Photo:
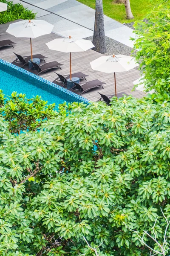
[[[8,121],[12,133],[35,131],[42,122],[58,114],[55,104],[47,105],[41,96],[27,99],[26,94],[16,92],[13,92],[8,99],[4,96],[0,90],[0,113]]]

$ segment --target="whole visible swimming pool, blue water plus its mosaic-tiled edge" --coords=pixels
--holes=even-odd
[[[48,101],[48,104],[55,103],[56,106],[65,101],[88,103],[88,100],[82,96],[2,59],[0,59],[0,89],[6,96],[10,96],[13,91],[25,93],[28,99],[39,95],[43,100]]]

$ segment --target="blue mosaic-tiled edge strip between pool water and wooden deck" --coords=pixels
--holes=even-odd
[[[86,104],[89,103],[89,100],[88,100],[88,99],[85,99],[84,97],[82,97],[82,96],[80,96],[80,95],[78,95],[78,94],[76,94],[76,93],[73,93],[73,92],[71,92],[71,91],[69,91],[69,90],[67,90],[67,89],[65,89],[65,88],[63,88],[63,87],[61,87],[61,86],[59,86],[59,85],[57,85],[57,84],[54,84],[53,82],[48,81],[47,79],[42,78],[41,76],[37,76],[37,75],[34,74],[34,73],[31,73],[31,72],[29,72],[29,71],[27,71],[27,70],[24,70],[23,68],[18,67],[18,66],[14,65],[14,64],[12,64],[12,63],[10,63],[10,62],[8,62],[8,61],[5,61],[5,60],[3,60],[3,59],[0,58],[0,63],[3,63],[3,64],[5,64],[5,65],[7,65],[8,67],[11,67],[11,68],[13,68],[13,69],[15,69],[15,70],[20,71],[21,73],[24,73],[24,74],[26,74],[26,75],[28,75],[28,76],[31,76],[31,77],[33,77],[33,78],[39,80],[39,81],[42,81],[42,82],[45,83],[45,84],[48,84],[48,85],[50,85],[50,86],[52,86],[52,87],[55,87],[57,90],[60,90],[60,91],[62,91],[63,93],[67,93],[68,95],[74,97],[74,98],[75,98],[75,101],[76,101],[76,99],[78,99],[79,101],[84,102],[84,103],[86,103]]]

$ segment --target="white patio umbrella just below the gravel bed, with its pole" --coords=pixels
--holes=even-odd
[[[92,61],[92,70],[101,71],[104,73],[114,73],[115,96],[116,92],[116,72],[129,71],[138,66],[133,57],[117,54],[110,56],[102,56]]]

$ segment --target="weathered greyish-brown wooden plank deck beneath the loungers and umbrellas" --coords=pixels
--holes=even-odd
[[[20,55],[26,56],[30,55],[30,39],[29,38],[15,38],[12,35],[6,33],[6,29],[8,28],[10,23],[0,25],[0,40],[10,39],[11,41],[17,43],[14,45],[14,49],[12,47],[3,47],[0,49],[0,58],[12,62],[15,59],[15,55],[13,52],[16,52]],[[49,50],[45,43],[55,39],[60,38],[58,35],[51,33],[49,35],[44,35],[35,39],[32,39],[33,46],[33,54],[41,53],[44,56],[47,56],[47,62],[49,61],[58,61],[59,63],[64,64],[62,66],[62,70],[56,69],[55,71],[62,74],[69,74],[69,53],[57,52],[53,50]],[[116,54],[116,52],[114,52]],[[111,95],[114,94],[114,76],[113,74],[106,74],[98,71],[91,70],[91,65],[89,64],[91,61],[99,58],[102,54],[95,52],[93,50],[88,50],[86,52],[73,52],[72,53],[72,73],[82,72],[89,77],[87,81],[91,81],[93,79],[99,79],[106,84],[104,84],[104,89],[96,88],[88,91],[87,93],[83,93],[82,96],[91,101],[96,101],[99,99],[98,91],[102,94]],[[48,71],[41,75],[43,78],[53,81],[56,78],[56,74],[54,71]],[[116,73],[116,85],[117,85],[117,93],[125,92],[127,94],[132,94],[133,96],[140,98],[145,94],[141,91],[131,91],[133,88],[133,81],[139,79],[140,74],[138,70],[130,70],[128,72]]]

